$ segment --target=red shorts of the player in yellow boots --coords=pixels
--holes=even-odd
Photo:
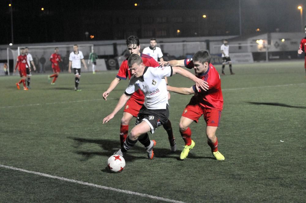
[[[203,115],[207,126],[219,126],[221,111],[218,109],[208,109],[200,105],[187,105],[182,116],[194,120],[196,123]]]

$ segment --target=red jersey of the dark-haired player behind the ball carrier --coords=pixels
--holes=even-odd
[[[154,58],[150,57],[147,54],[140,54],[142,61],[144,62],[145,66],[149,67],[158,67],[159,64],[155,61]],[[125,59],[119,68],[118,74],[116,76],[119,79],[126,80],[128,77],[131,79],[132,73],[128,66],[128,58]],[[139,89],[131,95],[131,98],[135,98],[136,100],[144,101],[144,93]]]

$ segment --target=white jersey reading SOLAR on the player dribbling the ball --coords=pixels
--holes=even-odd
[[[125,94],[131,95],[140,89],[144,93],[144,106],[147,109],[166,109],[168,91],[165,77],[172,76],[172,67],[145,67],[144,75],[131,77]]]

